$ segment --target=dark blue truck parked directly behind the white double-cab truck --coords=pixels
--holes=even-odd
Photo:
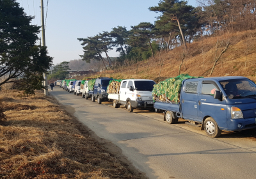
[[[88,96],[92,99],[92,102],[97,99],[98,104],[101,104],[102,101],[108,100],[107,88],[109,81],[112,80],[107,77],[98,77],[96,79],[93,90],[88,91]]]

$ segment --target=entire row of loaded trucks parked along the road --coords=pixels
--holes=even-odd
[[[256,84],[246,77],[190,77],[181,75],[166,81],[116,80],[106,77],[90,81],[64,80],[60,87],[83,98],[124,105],[130,113],[142,108],[164,113],[164,121],[182,118],[201,126],[208,136],[221,130],[256,128]]]

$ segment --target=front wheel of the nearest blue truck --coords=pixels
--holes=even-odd
[[[206,118],[204,121],[204,130],[210,137],[219,137],[221,134],[220,128],[212,117]]]

